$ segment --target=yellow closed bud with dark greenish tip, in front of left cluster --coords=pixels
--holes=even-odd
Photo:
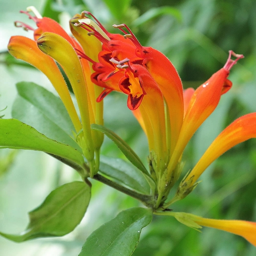
[[[71,83],[82,120],[84,137],[81,143],[83,144],[83,153],[89,162],[93,161],[94,146],[91,137],[89,102],[87,98],[86,82],[79,58],[72,45],[60,35],[50,32],[43,33],[41,37],[38,38],[37,44],[42,52],[48,54],[63,67]]]

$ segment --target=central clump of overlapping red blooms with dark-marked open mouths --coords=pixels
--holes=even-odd
[[[96,26],[88,22],[86,14],[89,13],[83,12],[82,19],[78,19],[80,23],[74,23],[74,26],[83,28],[102,42],[99,62],[90,60],[95,71],[91,77],[93,82],[105,88],[98,101],[112,90],[128,94],[128,108],[133,110],[147,134],[151,173],[159,187],[184,116],[180,77],[162,53],[140,45],[126,25],[114,25],[125,34],[124,37],[110,34],[97,20]],[[159,199],[162,197],[164,195],[158,196]]]

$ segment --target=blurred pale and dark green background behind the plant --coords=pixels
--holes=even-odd
[[[2,0],[3,1],[3,0]],[[152,46],[172,61],[184,88],[197,87],[223,67],[228,50],[244,54],[229,76],[233,88],[222,96],[215,112],[193,136],[184,153],[187,172],[212,140],[235,118],[256,111],[256,1],[255,0],[9,0],[0,10],[0,112],[11,117],[16,97],[15,83],[31,81],[54,91],[34,68],[17,63],[7,54],[11,35],[31,33],[15,28],[19,14],[35,5],[44,16],[68,29],[68,19],[91,11],[105,25],[126,23],[145,46]],[[5,107],[7,107],[5,109]],[[125,95],[105,98],[105,125],[113,129],[146,162],[147,141]],[[102,154],[120,156],[109,140]],[[27,212],[33,210],[58,185],[79,180],[73,170],[48,155],[34,151],[0,150],[0,230],[19,233],[25,229]],[[256,221],[256,140],[232,148],[202,175],[203,182],[184,200],[172,206],[203,217]],[[173,190],[175,192],[175,188]],[[43,238],[16,244],[0,237],[1,256],[76,256],[89,234],[135,200],[93,182],[93,196],[82,223],[61,238]],[[181,225],[171,217],[154,217],[133,253],[135,256],[255,256],[256,248],[243,238],[224,231],[203,228],[202,233]]]

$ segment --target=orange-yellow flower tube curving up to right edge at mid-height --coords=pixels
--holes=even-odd
[[[212,142],[210,147],[208,147],[184,182],[193,178],[191,184],[193,185],[197,178],[199,178],[215,159],[231,147],[251,138],[256,138],[256,113],[250,113],[238,118],[223,130]]]

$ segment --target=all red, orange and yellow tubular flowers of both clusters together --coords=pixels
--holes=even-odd
[[[170,189],[180,178],[185,146],[217,107],[221,95],[230,90],[230,69],[244,56],[229,51],[223,68],[196,90],[183,90],[181,79],[169,59],[158,50],[140,45],[124,24],[113,25],[124,35],[112,34],[93,15],[84,11],[70,20],[74,39],[54,20],[42,18],[35,10],[35,16],[25,13],[38,28],[33,29],[24,23],[16,23],[16,26],[33,30],[34,40],[14,36],[8,45],[9,52],[40,69],[52,82],[74,124],[76,139],[90,163],[91,177],[98,170],[103,137],[92,131],[90,124],[103,124],[102,99],[113,90],[120,91],[128,95],[127,106],[147,135],[148,165],[156,184],[152,191],[155,213],[172,215],[194,228],[202,225],[226,230],[256,245],[256,223],[219,221],[164,211],[196,187],[200,175],[215,159],[236,144],[256,137],[256,113],[235,120],[212,142],[191,172],[182,179],[173,199],[166,202]],[[54,60],[71,82],[81,121]]]

